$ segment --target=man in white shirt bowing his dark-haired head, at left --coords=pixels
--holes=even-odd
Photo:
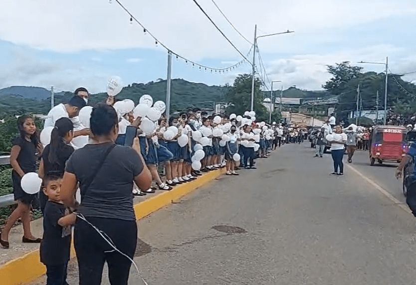
[[[85,107],[86,103],[83,98],[78,96],[73,96],[66,104],[59,104],[53,107],[45,120],[44,127],[54,127],[55,122],[60,118],[69,118],[71,121],[78,117],[79,110]],[[74,123],[74,121],[72,121]],[[77,136],[88,136],[90,134],[90,129],[83,127],[80,123],[79,126],[74,123],[74,137]]]

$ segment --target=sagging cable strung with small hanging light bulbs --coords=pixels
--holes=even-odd
[[[250,64],[251,64],[251,62],[249,61],[249,60],[247,60],[247,56],[248,56],[248,54],[250,54],[250,52],[251,52],[251,48],[250,48],[250,51],[247,53],[247,55],[246,56],[243,56],[243,58],[244,59],[242,59],[242,60],[240,60],[240,61],[238,61],[237,63],[235,63],[235,64],[233,64],[233,65],[230,65],[230,66],[227,66],[227,67],[222,67],[222,68],[216,68],[216,67],[209,67],[209,66],[206,66],[206,65],[203,65],[203,64],[200,64],[200,63],[197,63],[197,62],[195,62],[195,61],[192,61],[192,60],[190,60],[190,59],[188,59],[188,58],[186,58],[186,57],[184,57],[184,56],[182,56],[182,55],[180,55],[180,54],[178,54],[178,53],[176,53],[176,52],[174,52],[172,49],[170,49],[168,46],[166,46],[164,43],[162,43],[159,39],[157,39],[156,38],[156,36],[154,36],[148,29],[146,29],[146,27],[120,2],[120,0],[115,0],[119,5],[120,5],[120,7],[121,8],[123,8],[123,10],[124,11],[126,11],[126,13],[128,13],[129,14],[129,16],[130,16],[130,23],[133,23],[133,20],[136,22],[136,23],[138,23],[142,28],[143,28],[143,32],[144,33],[148,33],[154,40],[155,40],[155,43],[156,43],[156,45],[157,44],[160,44],[161,46],[163,46],[164,48],[166,48],[166,50],[168,50],[168,51],[170,51],[172,54],[174,54],[175,56],[176,56],[176,58],[177,59],[179,59],[179,58],[181,58],[181,59],[183,59],[187,64],[188,63],[191,63],[192,64],[192,66],[197,66],[197,67],[199,67],[199,69],[202,71],[203,70],[203,68],[205,69],[205,71],[208,71],[208,70],[210,70],[211,71],[211,73],[212,73],[212,71],[215,71],[215,72],[219,72],[219,73],[221,73],[221,72],[226,72],[226,71],[231,71],[231,70],[233,70],[233,69],[235,69],[236,67],[238,67],[238,66],[240,66],[241,64],[243,64],[244,63],[244,61],[248,61]]]

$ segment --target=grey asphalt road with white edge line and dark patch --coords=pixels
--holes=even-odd
[[[414,284],[415,219],[330,154],[284,145],[256,170],[222,176],[138,222],[135,261],[149,285]],[[400,201],[394,168],[352,167]],[[68,283],[78,283],[71,261]],[[33,285],[44,284],[39,279]],[[102,284],[109,284],[106,276]],[[142,285],[131,270],[130,285]]]

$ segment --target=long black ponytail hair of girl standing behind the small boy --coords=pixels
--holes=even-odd
[[[55,127],[50,134],[49,144],[49,162],[51,164],[59,164],[58,155],[62,153],[62,149],[65,147],[63,137],[69,132],[74,130],[74,124],[68,118],[60,118],[55,122]]]

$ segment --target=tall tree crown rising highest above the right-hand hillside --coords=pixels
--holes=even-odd
[[[351,66],[349,61],[343,61],[335,65],[327,65],[327,69],[333,77],[322,85],[322,88],[334,95],[339,95],[346,83],[359,76],[363,67]]]

